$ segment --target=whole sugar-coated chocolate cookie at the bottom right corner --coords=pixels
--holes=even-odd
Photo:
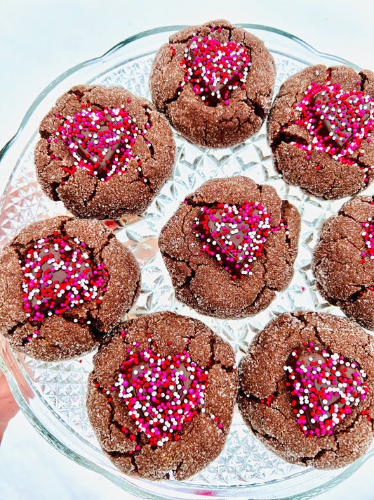
[[[281,314],[239,365],[239,409],[284,460],[333,469],[363,455],[374,429],[374,342],[345,318]]]

